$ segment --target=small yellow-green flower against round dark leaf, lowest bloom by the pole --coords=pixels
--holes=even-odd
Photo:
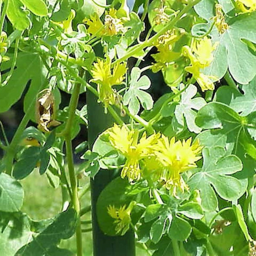
[[[134,208],[136,202],[130,202],[129,206],[126,208],[126,205],[118,208],[114,206],[108,206],[108,214],[111,218],[114,218],[114,223],[116,224],[115,231],[117,234],[121,234],[123,236],[127,230],[130,228],[130,223],[132,222],[130,218],[130,213]]]

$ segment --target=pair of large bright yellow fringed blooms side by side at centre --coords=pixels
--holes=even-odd
[[[144,133],[138,142],[138,130],[128,130],[116,124],[108,130],[111,145],[126,157],[126,164],[121,171],[121,177],[128,177],[129,182],[150,177],[158,180],[167,190],[175,195],[177,188],[182,192],[186,184],[180,174],[196,167],[196,161],[201,159],[199,154],[202,147],[198,142],[191,145],[188,140],[175,141],[153,134],[146,137]]]

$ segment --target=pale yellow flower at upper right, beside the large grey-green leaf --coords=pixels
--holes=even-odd
[[[215,76],[208,76],[201,72],[202,69],[210,65],[214,57],[212,55],[216,44],[212,46],[212,41],[204,37],[201,40],[196,40],[192,47],[183,46],[182,52],[185,57],[190,58],[191,65],[186,66],[185,70],[193,74],[202,91],[214,90],[214,81],[218,78]]]

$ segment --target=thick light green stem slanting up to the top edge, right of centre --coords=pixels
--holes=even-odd
[[[184,7],[170,23],[168,23],[166,26],[164,26],[164,28],[162,28],[162,30],[154,34],[154,36],[148,39],[148,41],[144,41],[142,44],[138,44],[137,46],[131,47],[127,54],[125,54],[118,60],[114,61],[112,65],[116,65],[117,63],[123,62],[124,60],[127,60],[127,58],[132,57],[137,52],[143,50],[145,47],[151,46],[159,38],[159,36],[166,33],[166,31],[171,30],[174,27],[175,23],[177,23],[178,20],[180,20],[180,18],[182,18],[184,14],[186,14],[194,5],[198,4],[198,2],[200,1],[201,0],[190,1],[189,4],[186,7]]]

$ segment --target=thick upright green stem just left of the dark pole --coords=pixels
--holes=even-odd
[[[76,226],[76,247],[77,247],[78,256],[82,256],[82,231],[81,231],[81,220],[80,220],[80,202],[79,202],[79,196],[78,196],[78,180],[74,170],[73,150],[72,150],[72,143],[71,143],[71,130],[73,127],[76,108],[78,106],[80,89],[81,89],[81,84],[76,84],[76,86],[74,86],[71,99],[70,99],[70,106],[68,110],[68,121],[66,122],[66,127],[63,132],[64,138],[65,138],[65,145],[66,145],[66,159],[68,162],[68,173],[70,175],[70,186],[72,191],[71,200],[73,203],[74,210],[76,210],[76,212],[78,213],[78,224]]]

